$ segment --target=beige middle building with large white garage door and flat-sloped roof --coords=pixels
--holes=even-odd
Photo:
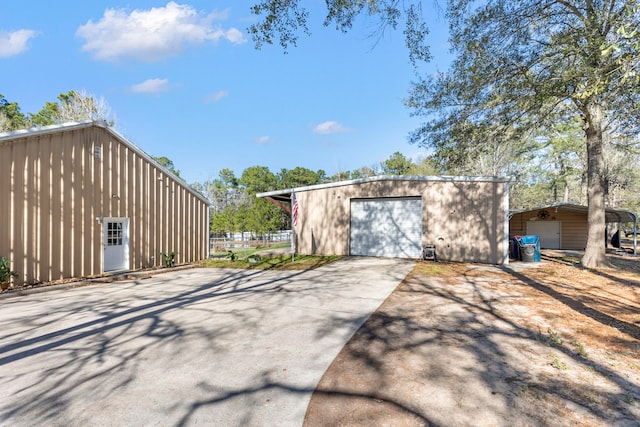
[[[298,203],[300,254],[509,260],[508,178],[377,176],[258,194]]]

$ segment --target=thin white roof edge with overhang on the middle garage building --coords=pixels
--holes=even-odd
[[[307,187],[288,188],[285,190],[269,191],[265,193],[258,193],[256,197],[267,198],[272,202],[290,202],[291,193],[319,190],[323,188],[343,187],[354,184],[364,184],[367,182],[378,181],[434,181],[434,182],[504,182],[509,183],[513,181],[511,177],[496,177],[496,176],[402,176],[402,175],[380,175],[372,176],[369,178],[351,179],[346,181],[329,182],[326,184],[309,185]]]

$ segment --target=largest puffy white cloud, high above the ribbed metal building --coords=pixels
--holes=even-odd
[[[82,50],[91,52],[96,59],[153,62],[206,42],[222,39],[244,43],[244,35],[238,29],[214,26],[214,21],[225,18],[224,12],[204,15],[189,5],[171,1],[164,7],[131,13],[107,9],[99,21],[89,20],[80,26],[76,35],[85,39]]]

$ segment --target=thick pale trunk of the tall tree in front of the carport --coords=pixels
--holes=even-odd
[[[587,268],[603,267],[606,259],[606,223],[604,212],[604,156],[602,154],[602,105],[588,103],[584,111],[587,137],[587,247],[582,265]]]

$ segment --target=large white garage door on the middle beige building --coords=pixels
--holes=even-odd
[[[351,255],[420,258],[420,197],[351,200]]]

